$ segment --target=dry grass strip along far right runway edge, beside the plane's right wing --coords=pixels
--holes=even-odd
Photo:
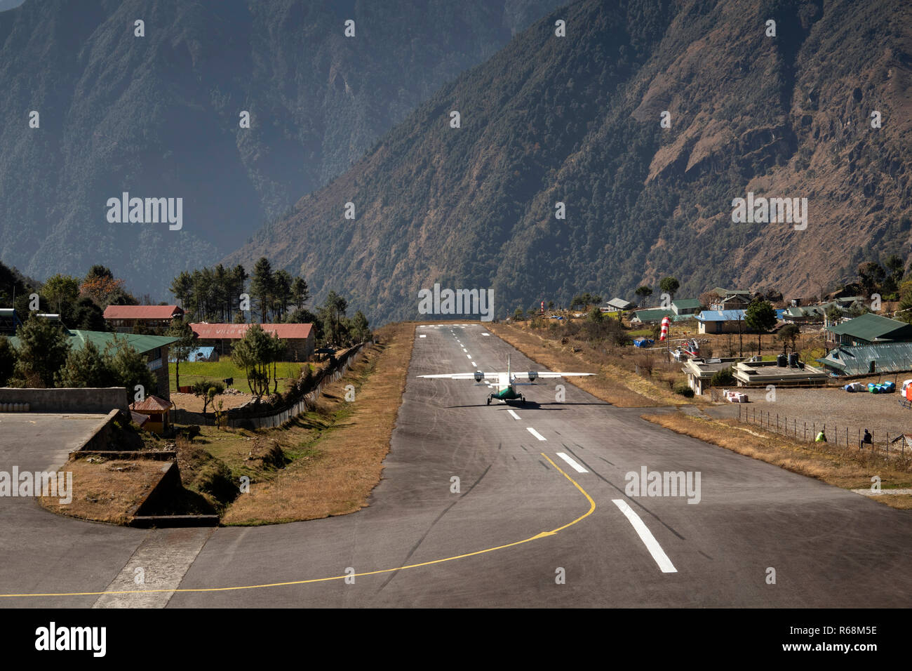
[[[573,383],[609,404],[622,408],[642,408],[690,402],[689,399],[668,389],[668,384],[663,388],[656,381],[637,375],[617,362],[612,362],[605,354],[585,348],[581,351],[570,351],[558,341],[543,338],[514,324],[492,323],[488,324],[488,329],[515,349],[522,351],[525,356],[553,371],[582,368],[580,372],[592,372],[595,368],[599,374],[588,378],[575,378]],[[632,364],[628,363],[628,366],[633,368]]]

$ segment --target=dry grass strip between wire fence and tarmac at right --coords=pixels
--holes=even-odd
[[[675,433],[690,435],[793,473],[815,477],[835,487],[870,488],[873,476],[880,477],[884,489],[912,487],[909,464],[885,456],[859,453],[831,444],[801,443],[756,426],[738,425],[737,420],[702,419],[679,412],[644,414],[642,417]],[[871,498],[893,508],[912,508],[912,498],[906,495]]]

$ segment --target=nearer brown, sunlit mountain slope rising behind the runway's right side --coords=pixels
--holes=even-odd
[[[500,316],[665,275],[679,296],[816,294],[861,260],[908,260],[910,32],[904,0],[578,2],[225,260],[269,257],[373,321],[418,317],[435,282],[493,288]],[[749,193],[807,198],[806,229],[735,223]]]

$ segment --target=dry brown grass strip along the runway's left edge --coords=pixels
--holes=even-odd
[[[377,331],[371,348],[337,383],[326,387],[317,417],[260,432],[293,460],[251,485],[228,508],[223,524],[253,525],[345,515],[367,506],[399,413],[413,343],[413,324]],[[354,384],[356,400],[344,400]],[[313,425],[318,418],[324,425]],[[245,436],[250,437],[250,436]]]

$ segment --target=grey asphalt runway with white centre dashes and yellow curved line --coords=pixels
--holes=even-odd
[[[178,591],[155,603],[912,604],[912,513],[674,434],[640,419],[643,409],[616,408],[568,380],[523,387],[526,404],[486,405],[487,385],[417,376],[503,371],[508,354],[514,371],[538,367],[479,323],[418,327],[415,338],[390,453],[369,507],[337,518],[216,529],[200,541]],[[565,388],[563,401],[557,384]],[[648,491],[627,496],[627,473],[644,467],[699,474],[699,503],[645,496]],[[7,503],[0,501],[5,539],[18,514]],[[104,591],[140,542],[151,564],[147,575],[157,569],[148,558],[171,542],[163,536],[148,542],[154,532],[32,512],[27,539],[43,541],[4,547],[0,593]],[[60,574],[36,562],[41,553],[60,557],[86,529],[102,529],[107,545],[72,556],[68,567],[57,567]],[[150,603],[145,598],[136,595],[135,604]],[[132,599],[119,595],[117,603]],[[5,597],[0,606],[97,600]]]

